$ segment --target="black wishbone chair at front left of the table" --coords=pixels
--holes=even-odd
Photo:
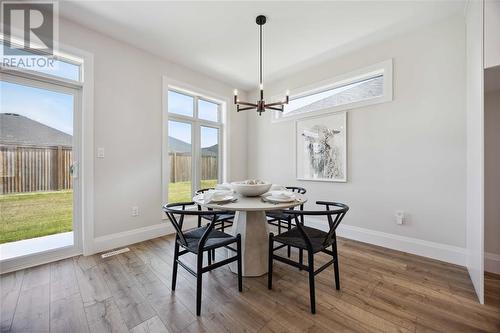
[[[222,211],[199,211],[199,210],[186,210],[186,207],[193,206],[194,202],[171,203],[163,206],[163,211],[167,214],[168,219],[176,231],[175,247],[174,247],[174,265],[172,269],[172,290],[175,290],[177,281],[177,267],[181,265],[191,275],[196,277],[196,315],[201,313],[201,288],[203,273],[209,272],[215,268],[227,265],[233,261],[238,264],[238,290],[241,292],[242,275],[241,275],[241,236],[228,235],[218,230],[214,230],[217,217],[227,212]],[[178,216],[178,218],[176,217]],[[182,230],[184,223],[184,216],[209,216],[211,221],[208,225],[195,228],[187,231]],[[229,245],[236,243],[236,249]],[[180,248],[183,250],[180,250]],[[210,252],[220,247],[225,247],[231,251],[236,252],[236,255],[219,262],[212,263]],[[208,266],[203,267],[203,253],[208,254]],[[196,255],[196,270],[191,269],[184,262],[179,260],[179,257],[186,254],[193,253]]]

